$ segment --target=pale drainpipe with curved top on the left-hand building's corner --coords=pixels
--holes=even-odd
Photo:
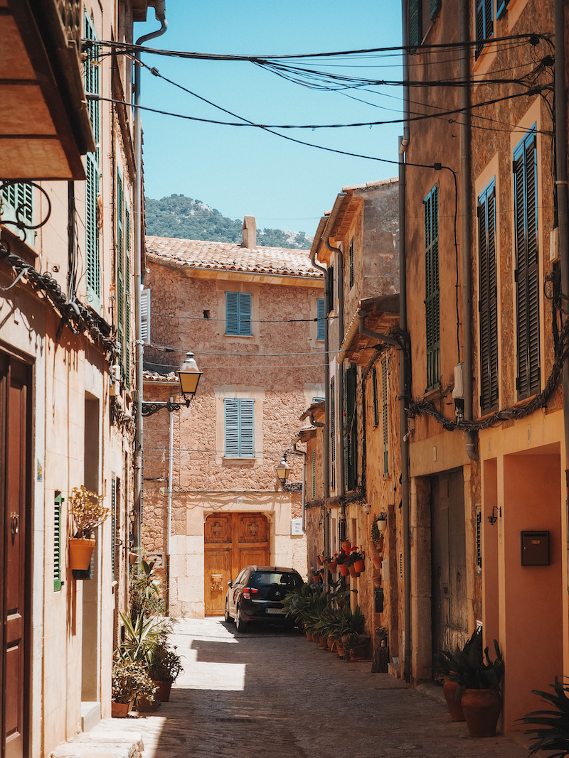
[[[145,34],[137,39],[137,45],[142,45],[149,39],[155,39],[165,33],[166,7],[165,0],[156,0],[154,8],[156,20],[160,22],[160,29],[150,34]],[[136,335],[135,363],[137,374],[137,425],[134,431],[134,524],[133,538],[134,548],[142,547],[142,489],[143,489],[143,354],[142,342],[142,303],[140,288],[142,287],[142,133],[140,127],[140,52],[134,54],[134,319]]]

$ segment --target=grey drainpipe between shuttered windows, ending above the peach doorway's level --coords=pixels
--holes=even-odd
[[[470,0],[461,0],[458,5],[458,39],[468,42]],[[470,127],[470,46],[459,44],[459,77],[468,86],[460,88],[461,118],[461,240],[462,240],[462,334],[464,342],[464,420],[472,421],[473,417],[473,370],[472,370],[472,204],[471,193],[471,160],[470,146],[472,130]],[[460,359],[460,356],[459,356]],[[470,460],[476,460],[476,434],[467,431],[466,453]]]

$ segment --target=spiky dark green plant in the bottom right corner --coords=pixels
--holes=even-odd
[[[534,735],[531,739],[535,740],[530,747],[530,755],[535,755],[542,750],[557,750],[556,753],[549,753],[550,758],[561,758],[569,755],[569,687],[562,684],[559,678],[555,677],[555,684],[550,685],[553,692],[542,692],[541,690],[532,690],[533,694],[539,695],[548,705],[553,706],[552,710],[532,711],[517,719],[526,724],[536,725],[535,728],[527,729],[527,735]]]

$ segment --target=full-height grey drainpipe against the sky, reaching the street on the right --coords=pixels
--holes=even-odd
[[[407,29],[407,2],[401,3],[403,11],[403,45],[409,44]],[[409,81],[409,53],[403,58],[403,78]],[[407,431],[406,401],[410,397],[410,340],[407,340],[407,239],[405,224],[405,198],[407,171],[405,153],[409,145],[409,85],[403,90],[403,136],[399,138],[399,328],[406,340],[405,349],[399,351],[399,443],[401,445],[401,520],[403,531],[403,676],[411,678],[411,545],[410,545],[410,497],[409,497],[409,436]],[[408,355],[407,355],[408,351]]]

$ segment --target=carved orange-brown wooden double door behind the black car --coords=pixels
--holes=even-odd
[[[262,513],[212,513],[204,530],[206,615],[223,615],[228,581],[247,565],[269,565],[269,522]]]

